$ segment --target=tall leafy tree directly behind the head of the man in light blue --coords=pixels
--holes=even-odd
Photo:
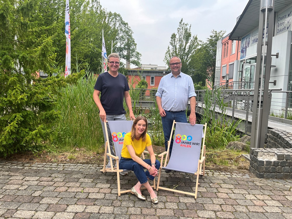
[[[197,35],[192,36],[191,25],[184,23],[183,18],[179,22],[177,34],[171,34],[169,44],[164,58],[166,65],[169,64],[169,60],[173,55],[177,55],[182,61],[181,71],[191,75],[189,68],[190,58],[200,43]]]

